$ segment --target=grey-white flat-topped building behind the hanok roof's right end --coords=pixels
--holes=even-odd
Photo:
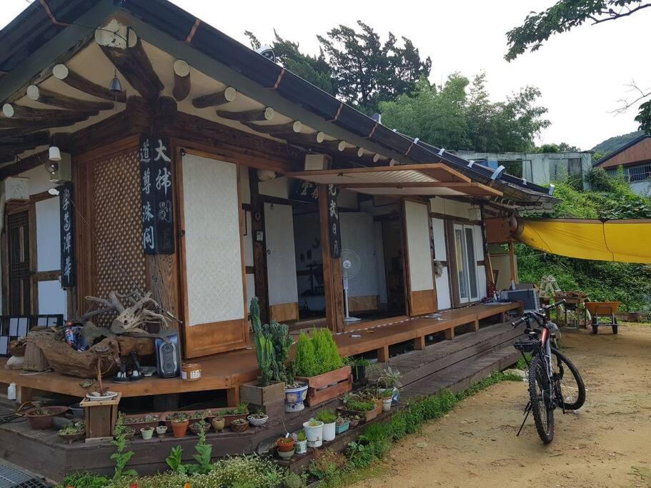
[[[491,168],[505,166],[507,173],[540,185],[564,179],[567,174],[578,174],[584,179],[583,187],[587,188],[584,177],[592,168],[592,151],[554,153],[456,151],[456,154],[463,159]]]

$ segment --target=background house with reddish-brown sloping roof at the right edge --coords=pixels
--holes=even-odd
[[[595,167],[603,168],[613,176],[618,166],[623,167],[624,176],[632,191],[638,195],[650,194],[651,136],[636,137],[595,162]]]

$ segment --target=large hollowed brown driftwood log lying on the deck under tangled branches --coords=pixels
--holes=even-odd
[[[112,376],[120,367],[121,356],[128,356],[132,351],[139,356],[154,354],[151,337],[106,338],[86,351],[76,351],[55,332],[30,334],[29,340],[41,349],[54,371],[81,378],[96,377],[98,361],[102,376]]]

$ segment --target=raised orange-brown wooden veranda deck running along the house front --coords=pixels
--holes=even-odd
[[[498,320],[503,322],[505,314],[515,309],[520,309],[518,302],[480,304],[439,312],[437,318],[383,319],[360,324],[359,329],[351,327],[347,332],[336,334],[335,340],[342,356],[376,351],[378,361],[387,362],[389,346],[414,341],[415,349],[424,349],[427,344],[425,337],[430,334],[444,332],[446,339],[453,339],[456,327],[472,324],[477,331],[480,320],[497,316]],[[4,369],[4,362],[5,360],[0,362],[0,383],[16,383],[21,393],[19,398],[21,401],[29,399],[29,395],[34,391],[66,394],[72,397],[82,397],[86,394],[86,391],[79,386],[81,381],[79,378],[66,377],[55,372],[22,375],[21,371]],[[112,390],[122,392],[123,397],[227,390],[228,404],[232,406],[239,402],[239,385],[255,379],[258,374],[252,344],[249,344],[247,349],[197,358],[193,359],[193,362],[198,362],[202,366],[202,379],[195,382],[185,382],[179,378],[151,377],[133,383],[110,383],[110,387]]]

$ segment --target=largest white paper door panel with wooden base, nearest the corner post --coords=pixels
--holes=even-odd
[[[246,347],[237,165],[186,154],[181,166],[185,354]]]

